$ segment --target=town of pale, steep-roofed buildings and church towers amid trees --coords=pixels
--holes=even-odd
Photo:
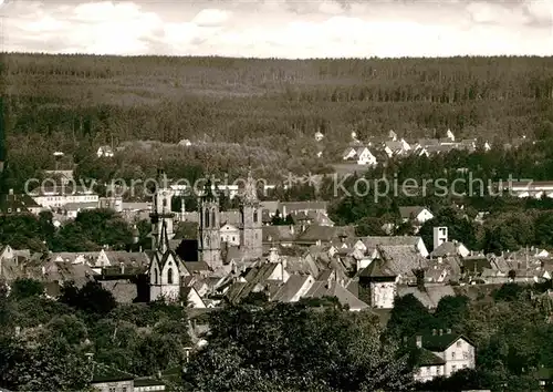
[[[315,134],[317,142],[323,137]],[[352,138],[343,159],[372,166],[378,164],[378,154],[392,158],[491,148],[488,143],[477,146],[477,141],[455,142],[450,130],[446,138],[413,144],[398,140],[393,131],[382,142],[363,143],[355,134]],[[108,146],[98,148],[98,159],[113,157]],[[476,300],[505,283],[546,283],[552,279],[553,259],[545,248],[484,254],[452,236],[447,226],[432,227],[431,243],[425,244],[417,233],[435,218],[426,206],[399,207],[399,224],[409,225],[413,235],[394,235],[397,223],[387,223],[382,227],[386,235],[358,236],[355,226],[334,224],[326,200],[270,199],[268,190],[275,185],[260,186],[251,167],[242,186],[216,186],[208,178],[194,195],[194,212],[187,212],[184,202],[180,210],[173,209],[175,199],[184,200],[186,189],[167,177],[163,161],[157,168],[157,187],[144,202],[128,202],[109,192],[101,197],[92,189],[67,188],[75,183],[71,169],[48,173],[55,178],[50,188],[39,186],[29,194],[10,189],[3,198],[3,216],[49,212],[59,229],[80,214],[112,210],[132,227],[132,238],[125,250],[105,246],[97,251],[33,252],[7,243],[0,251],[2,281],[8,287],[21,279],[40,281],[50,300],[59,298],[67,285],[79,289],[95,282],[121,305],[161,301],[185,307],[191,339],[187,355],[209,343],[204,314],[257,297],[282,303],[333,299],[346,311],[373,314],[385,327],[403,298],[413,298],[434,312],[442,299],[461,296]],[[551,193],[547,184],[541,183],[514,184],[511,190],[522,198]],[[223,197],[236,208],[221,208]],[[481,212],[474,219],[483,219],[486,214]],[[137,229],[145,219],[150,225],[146,241]],[[182,234],[179,227],[186,225],[192,230]],[[550,291],[544,296],[551,296]],[[18,333],[24,331],[18,327]],[[478,347],[455,326],[421,328],[404,338],[405,348],[420,352],[413,369],[415,381],[448,378],[477,365]],[[115,388],[111,385],[123,388],[121,391],[165,390],[170,385],[167,378],[174,376],[109,373],[106,369],[111,368],[102,363],[96,369],[91,385],[101,390],[109,385],[109,391]],[[105,372],[112,374],[108,380],[103,379]]]

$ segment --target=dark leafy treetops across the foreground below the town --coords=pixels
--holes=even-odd
[[[19,279],[9,292],[0,285],[0,385],[90,391],[92,353],[136,375],[170,374],[169,391],[536,391],[536,370],[553,367],[546,289],[508,283],[472,299],[448,296],[434,312],[408,295],[396,298],[386,327],[334,298],[275,303],[251,295],[196,318],[210,327],[208,344],[187,362],[188,309],[117,305],[95,282],[67,285],[55,301],[41,282]],[[404,338],[438,328],[476,345],[477,368],[414,383],[419,357]]]

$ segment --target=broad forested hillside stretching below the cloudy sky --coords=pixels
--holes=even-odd
[[[53,165],[54,149],[88,162],[82,169],[91,174],[107,171],[92,162],[102,144],[181,138],[205,143],[127,151],[112,169],[128,166],[147,175],[164,155],[174,167],[227,169],[251,157],[264,173],[325,172],[352,130],[361,138],[390,128],[415,138],[450,127],[458,137],[497,141],[532,135],[553,120],[551,58],[4,54],[2,73],[9,161],[23,177]],[[326,135],[321,159],[313,140],[317,130]]]

